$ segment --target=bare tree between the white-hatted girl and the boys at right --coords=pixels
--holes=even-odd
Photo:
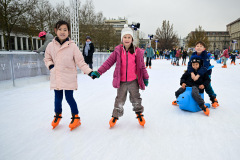
[[[158,47],[161,49],[171,49],[178,44],[177,34],[173,31],[173,24],[164,20],[161,28],[157,28],[155,39],[158,39]],[[155,45],[156,42],[153,43]]]

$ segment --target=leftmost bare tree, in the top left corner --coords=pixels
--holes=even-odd
[[[37,0],[0,0],[0,21],[4,46],[9,50],[10,34],[23,14],[34,9]]]

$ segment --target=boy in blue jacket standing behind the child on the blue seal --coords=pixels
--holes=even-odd
[[[207,55],[207,52],[205,51],[206,49],[206,45],[204,42],[202,41],[198,41],[195,45],[195,52],[192,53],[192,56],[188,62],[188,68],[187,71],[188,73],[191,73],[192,75],[192,79],[194,79],[195,81],[198,80],[198,78],[200,76],[203,76],[205,73],[208,73],[209,78],[211,79],[211,74],[212,74],[212,69],[208,69],[209,66],[211,66],[210,64],[210,59]],[[193,57],[197,56],[198,58],[200,58],[203,62],[203,65],[201,66],[201,68],[198,70],[198,74],[195,75],[194,69],[192,68],[191,65],[191,59]],[[208,87],[205,88],[206,93],[208,94],[208,96],[210,97],[210,100],[212,101],[212,106],[214,108],[218,107],[218,100],[217,100],[217,94],[214,92],[211,83],[208,85]]]

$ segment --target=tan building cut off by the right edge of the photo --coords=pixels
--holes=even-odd
[[[227,25],[230,34],[230,48],[240,50],[240,18]]]

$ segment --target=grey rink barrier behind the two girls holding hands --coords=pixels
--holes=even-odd
[[[110,53],[107,52],[94,53],[93,68],[101,66],[109,55]],[[43,53],[36,52],[0,52],[0,81],[12,80],[13,86],[15,86],[15,80],[18,78],[49,75],[43,58]],[[78,73],[81,73],[79,68]]]

